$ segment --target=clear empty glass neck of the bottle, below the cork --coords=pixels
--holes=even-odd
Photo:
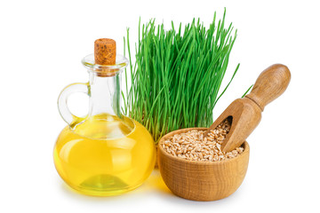
[[[101,76],[89,72],[90,77],[90,101],[89,116],[116,115],[122,118],[120,111],[121,75]]]

